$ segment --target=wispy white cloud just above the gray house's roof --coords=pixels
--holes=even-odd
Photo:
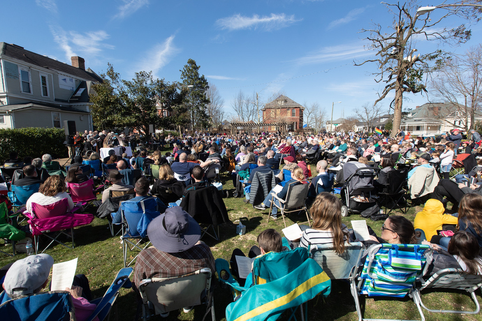
[[[50,31],[55,42],[64,50],[66,61],[70,61],[72,56],[78,54],[86,59],[93,59],[98,57],[103,50],[115,48],[113,45],[104,43],[109,35],[103,30],[78,33],[77,31],[64,31],[61,27],[50,26]]]

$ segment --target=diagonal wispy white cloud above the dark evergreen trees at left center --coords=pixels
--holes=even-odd
[[[136,66],[136,71],[152,71],[152,74],[157,77],[156,73],[159,72],[163,66],[166,66],[170,59],[174,57],[180,50],[174,45],[175,36],[170,36],[163,43],[158,43],[152,47],[149,52],[144,54],[144,58]]]

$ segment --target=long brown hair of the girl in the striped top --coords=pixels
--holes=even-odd
[[[309,212],[313,217],[313,228],[315,230],[331,230],[335,252],[343,254],[345,251],[344,236],[348,239],[348,235],[342,230],[342,202],[330,193],[319,193]]]

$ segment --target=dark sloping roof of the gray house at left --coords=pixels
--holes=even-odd
[[[0,58],[10,57],[17,60],[25,61],[27,64],[34,66],[39,66],[42,68],[48,68],[52,70],[57,70],[61,73],[66,73],[68,75],[73,75],[75,77],[90,80],[92,82],[102,82],[102,78],[96,75],[96,73],[83,70],[80,68],[73,67],[68,64],[64,64],[61,61],[45,57],[41,54],[36,54],[29,50],[24,50],[23,47],[18,45],[12,45],[10,43],[0,43]]]

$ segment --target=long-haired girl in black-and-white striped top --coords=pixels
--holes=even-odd
[[[348,229],[342,224],[342,202],[330,193],[319,193],[309,213],[313,217],[313,226],[303,231],[300,246],[308,248],[309,244],[333,243],[335,252],[343,254]]]

